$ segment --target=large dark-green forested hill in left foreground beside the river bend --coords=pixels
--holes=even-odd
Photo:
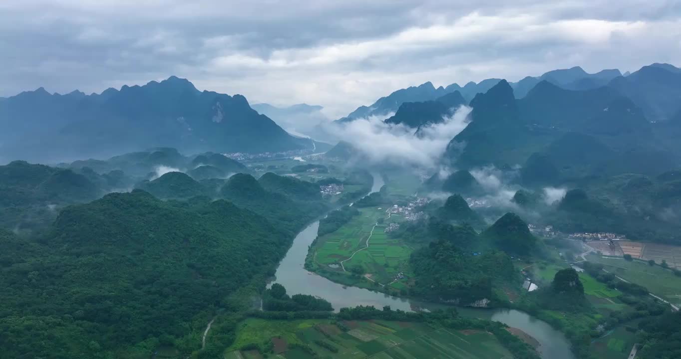
[[[39,241],[3,232],[2,356],[148,358],[159,339],[199,349],[183,339],[195,315],[262,286],[291,239],[226,201],[142,190],[67,207]]]

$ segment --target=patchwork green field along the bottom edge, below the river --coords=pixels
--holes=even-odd
[[[314,358],[292,343],[308,345],[318,358],[512,358],[494,335],[487,332],[432,328],[425,323],[383,320],[341,323],[347,331],[329,320],[286,322],[251,318],[240,326],[236,341],[227,349],[224,358],[261,358],[260,353],[240,352],[238,347],[249,343],[265,344],[272,339],[272,343],[276,341],[277,344],[273,352],[266,354],[278,354],[281,358],[291,359]],[[328,347],[336,348],[336,352]]]

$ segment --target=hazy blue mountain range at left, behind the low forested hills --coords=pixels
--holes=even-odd
[[[285,152],[315,147],[258,114],[242,95],[197,90],[171,76],[101,94],[44,88],[0,101],[6,158],[43,162],[172,146],[182,152]]]

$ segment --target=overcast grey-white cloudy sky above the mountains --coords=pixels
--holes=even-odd
[[[681,65],[681,0],[1,0],[0,96],[170,75],[336,118],[398,88]]]

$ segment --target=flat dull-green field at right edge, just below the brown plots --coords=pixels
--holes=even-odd
[[[648,288],[651,293],[665,298],[669,303],[681,305],[681,277],[677,277],[668,269],[637,260],[630,262],[619,258],[603,258],[595,254],[588,256],[587,259],[603,264],[605,270],[622,279]]]

